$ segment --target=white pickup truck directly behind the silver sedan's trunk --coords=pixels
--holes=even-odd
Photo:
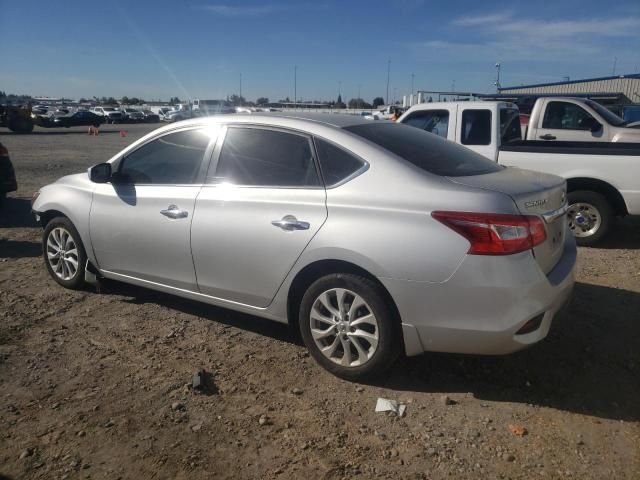
[[[507,102],[423,103],[398,119],[506,166],[567,180],[569,226],[579,245],[597,243],[616,216],[640,215],[640,145],[522,140]]]

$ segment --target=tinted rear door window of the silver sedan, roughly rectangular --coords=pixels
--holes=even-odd
[[[321,186],[312,152],[306,135],[229,127],[212,180],[261,187]]]

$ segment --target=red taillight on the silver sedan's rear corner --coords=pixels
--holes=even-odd
[[[433,212],[431,216],[469,240],[468,253],[473,255],[510,255],[530,250],[547,238],[544,223],[533,215]]]

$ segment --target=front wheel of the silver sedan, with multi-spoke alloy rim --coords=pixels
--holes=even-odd
[[[56,217],[44,229],[42,254],[49,275],[60,285],[71,289],[85,286],[84,270],[87,254],[80,234],[66,217]]]

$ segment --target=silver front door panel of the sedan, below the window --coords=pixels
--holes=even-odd
[[[196,290],[189,243],[200,188],[98,185],[93,194],[90,229],[99,268]],[[168,215],[161,213],[172,205],[177,209]]]

